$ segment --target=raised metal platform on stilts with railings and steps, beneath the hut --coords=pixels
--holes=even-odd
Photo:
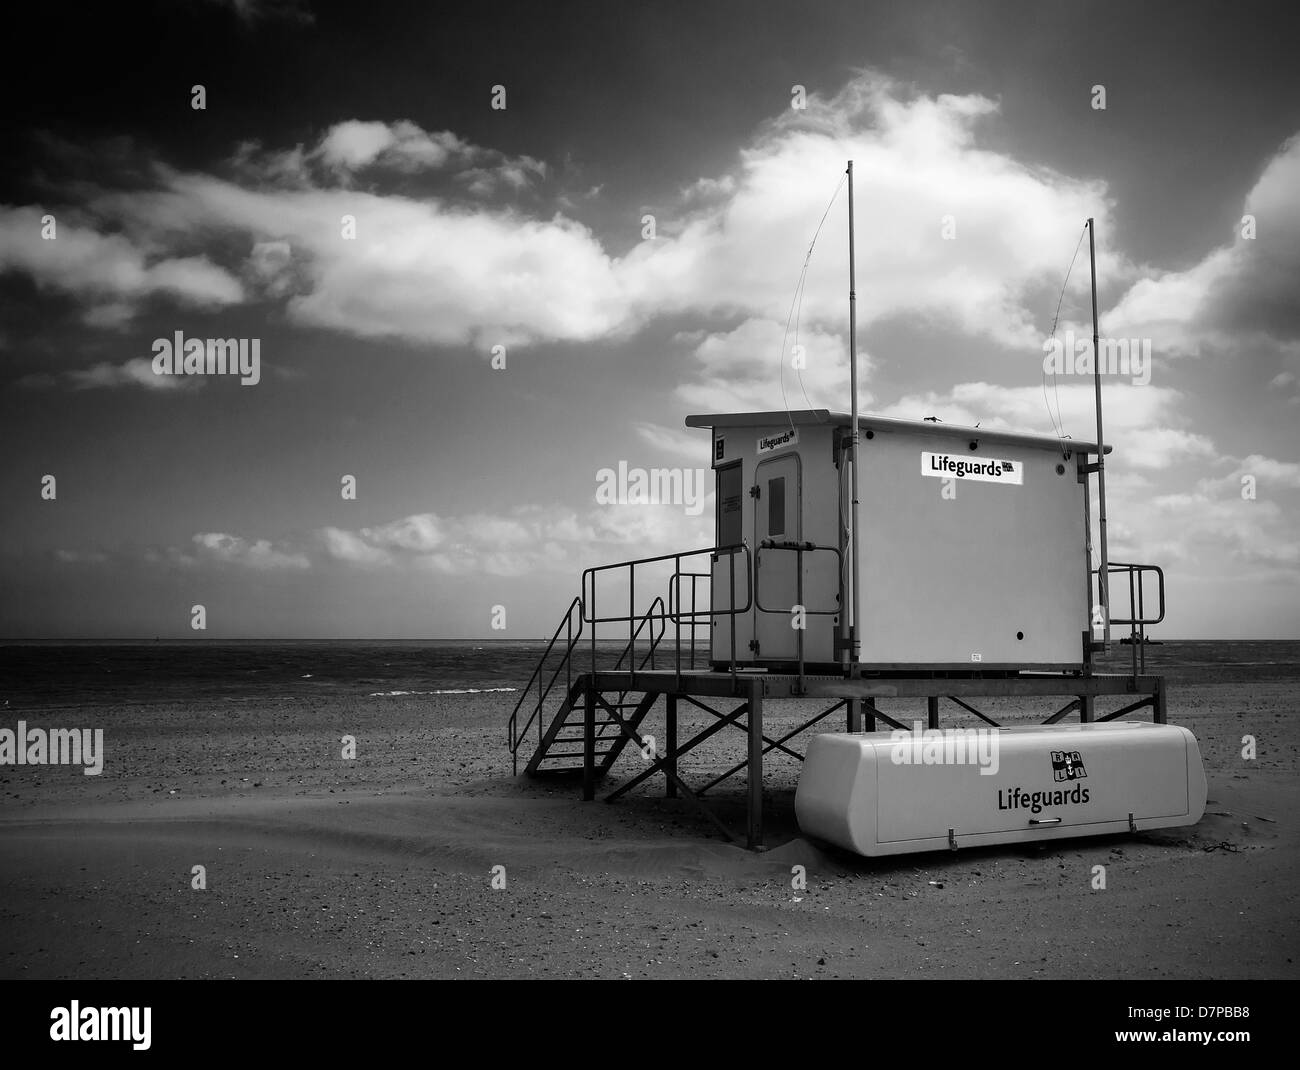
[[[1091,645],[1087,632],[1080,633],[1082,662],[1061,671],[1057,671],[1057,667],[1049,670],[1041,663],[1030,666],[984,663],[979,668],[966,670],[949,666],[900,667],[861,662],[849,664],[840,672],[828,673],[824,666],[819,668],[811,662],[805,664],[802,658],[796,667],[802,667],[803,671],[794,672],[788,671],[788,663],[776,660],[766,668],[746,666],[737,658],[736,633],[732,629],[731,657],[724,662],[727,667],[719,668],[716,650],[708,649],[716,644],[706,644],[706,649],[701,650],[697,628],[707,629],[712,627],[708,621],[750,612],[757,607],[754,598],[757,585],[753,582],[749,564],[746,564],[746,582],[750,590],[744,605],[733,597],[727,608],[696,607],[696,581],[707,580],[708,573],[692,572],[682,567],[682,560],[719,553],[734,555],[734,547],[720,545],[588,569],[582,582],[584,597],[573,598],[569,603],[532,677],[520,689],[519,701],[510,716],[507,744],[516,772],[523,750],[526,755],[524,772],[529,776],[580,775],[584,798],[594,800],[597,785],[630,744],[641,753],[644,762],[630,779],[606,796],[607,802],[619,800],[654,776],[662,776],[670,798],[680,797],[698,807],[728,840],[742,839],[750,848],[760,848],[764,757],[775,750],[802,763],[805,754],[790,744],[819,724],[823,725],[819,732],[863,733],[875,732],[878,725],[910,732],[911,724],[896,720],[901,716],[897,709],[890,711],[893,714],[890,716],[878,707],[879,699],[918,702],[924,699],[924,723],[927,728],[933,729],[941,727],[945,703],[949,712],[952,707],[957,707],[963,715],[978,718],[983,724],[1002,728],[976,705],[980,698],[997,697],[1048,699],[1043,725],[1060,725],[1071,714],[1078,714],[1078,720],[1083,724],[1113,722],[1140,710],[1149,710],[1150,720],[1157,724],[1166,723],[1165,680],[1145,673],[1145,662],[1140,657],[1144,651],[1140,645],[1134,646],[1131,672],[1097,673],[1092,671],[1091,651],[1104,646]],[[634,610],[636,588],[629,576],[625,592],[627,611],[611,614],[602,610],[598,614],[595,573],[604,575],[610,569],[630,569],[637,564],[664,562],[671,563],[672,568],[667,599],[655,597],[644,611]],[[1135,569],[1147,567],[1113,566],[1113,568],[1127,569],[1130,575],[1130,601],[1136,597],[1138,606],[1131,607],[1130,618],[1124,623],[1132,625],[1135,644],[1140,644],[1141,628],[1152,620],[1144,616]],[[602,606],[604,605],[602,601]],[[1162,580],[1160,616],[1164,616]],[[621,653],[598,645],[597,627],[601,624],[627,625],[627,641]],[[575,654],[584,632],[590,644],[590,657],[588,659],[584,655],[582,660],[586,664],[580,666]],[[664,641],[670,632],[671,640]],[[619,641],[623,642],[621,638]],[[1061,698],[1065,699],[1063,705],[1053,710],[1056,702],[1052,699]],[[642,733],[642,727],[660,699],[664,707],[663,727],[660,729],[656,723],[650,738],[650,733]],[[766,702],[809,699],[820,699],[827,705],[793,729],[784,731],[777,738],[764,733]],[[677,731],[677,711],[682,702],[712,719],[685,741],[679,740]],[[711,702],[714,705],[710,705]],[[1105,703],[1108,709],[1098,709],[1098,703]],[[844,711],[842,722],[827,722],[840,710]],[[783,729],[785,723],[783,722]],[[688,785],[679,774],[679,761],[724,728],[746,733],[744,761],[734,763],[706,784]],[[746,780],[748,809],[742,837],[734,835],[703,802],[703,796],[710,790],[741,772]]]

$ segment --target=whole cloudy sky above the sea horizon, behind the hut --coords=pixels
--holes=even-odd
[[[602,469],[848,411],[852,159],[863,410],[1092,438],[1044,343],[1091,335],[1093,217],[1101,334],[1150,352],[1102,380],[1110,556],[1165,568],[1161,637],[1300,638],[1284,4],[6,20],[58,62],[0,74],[0,637],[536,637],[584,568],[711,545],[711,497]],[[177,332],[257,381],[157,374]]]

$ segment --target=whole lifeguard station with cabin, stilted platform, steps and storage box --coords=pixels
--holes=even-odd
[[[850,220],[852,204],[850,164]],[[850,352],[853,307],[850,281]],[[745,840],[759,846],[763,762],[779,751],[802,763],[802,829],[868,855],[1199,820],[1196,740],[1165,723],[1165,681],[1145,672],[1164,573],[1106,554],[1100,384],[1097,438],[1086,442],[859,416],[855,360],[850,371],[848,415],[686,419],[711,432],[714,545],[582,573],[511,714],[516,771],[524,751],[529,775],[581,774],[592,800],[632,744],[634,775],[608,801],[662,776],[670,797],[698,806],[729,840],[738,837],[705,796],[745,772]],[[1110,590],[1124,586],[1127,615],[1117,616]],[[1095,671],[1112,625],[1131,629],[1127,673]],[[1004,728],[974,705],[992,696],[1066,702],[1039,727]],[[660,698],[662,744],[650,746]],[[831,705],[772,738],[764,702],[789,698]],[[883,698],[924,699],[931,732],[945,701],[976,718],[1004,755],[1000,771],[900,761],[878,723],[910,727],[878,709]],[[1118,706],[1098,714],[1098,699]],[[681,702],[712,718],[684,741]],[[794,749],[840,710],[844,732]],[[1117,723],[1140,710],[1152,720]],[[679,759],[727,728],[746,733],[745,759],[686,784]]]

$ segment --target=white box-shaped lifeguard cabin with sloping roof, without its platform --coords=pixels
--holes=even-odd
[[[862,416],[854,549],[849,415],[729,412],[686,426],[712,430],[716,545],[753,554],[753,611],[714,618],[715,667],[732,660],[732,628],[737,663],[772,670],[844,667],[850,640],[868,671],[1087,662],[1095,443]],[[712,605],[729,605],[727,556],[711,576]]]

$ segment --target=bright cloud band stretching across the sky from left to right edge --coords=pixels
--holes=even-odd
[[[549,176],[542,161],[410,120],[352,118],[306,146],[243,144],[222,174],[153,165],[144,189],[91,196],[61,222],[58,242],[40,242],[36,208],[0,209],[0,238],[21,239],[0,244],[0,269],[83,298],[91,321],[116,326],[155,296],[199,308],[277,302],[302,326],[481,350],[616,342],[654,320],[685,319],[705,329],[680,339],[694,360],[677,390],[684,404],[842,408],[842,189],[828,215],[827,204],[845,160],[870,190],[857,229],[863,329],[905,319],[913,329],[932,325],[1040,355],[1045,312],[1082,220],[1113,230],[1105,183],[987,146],[984,127],[997,111],[976,94],[926,94],[861,73],[833,95],[810,96],[806,111],[762,124],[732,168],[650,205],[659,237],[621,256],[558,208],[502,199],[536,189]],[[1186,272],[1161,274],[1101,248],[1106,285],[1127,286],[1105,313],[1108,330],[1153,337],[1158,358],[1206,343],[1227,352],[1232,338],[1253,332],[1291,346],[1277,352],[1291,354],[1295,373],[1292,179],[1300,181],[1296,140],[1247,198],[1258,238],[1214,250]],[[573,203],[554,192],[554,205]],[[355,221],[355,239],[343,234],[344,217]],[[783,339],[793,345],[785,322],[823,220],[798,311],[807,348],[801,386]],[[1071,285],[1082,294],[1087,272]],[[867,354],[862,360],[866,404],[872,364]]]

